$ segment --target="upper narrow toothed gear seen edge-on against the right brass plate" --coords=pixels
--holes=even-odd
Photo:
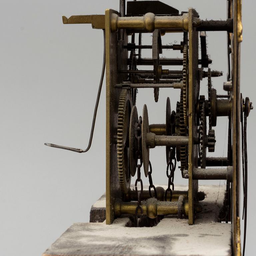
[[[183,69],[182,69],[182,97],[183,97],[183,115],[184,126],[187,127],[187,90],[188,90],[188,46],[183,48]]]

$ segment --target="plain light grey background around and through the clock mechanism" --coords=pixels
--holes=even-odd
[[[179,11],[192,6],[202,19],[226,18],[224,0],[163,2]],[[93,30],[90,25],[63,25],[61,16],[104,14],[107,8],[118,10],[119,1],[1,0],[0,3],[0,254],[40,255],[73,222],[88,222],[90,206],[105,191],[105,86],[89,152],[78,154],[43,145],[53,142],[87,146],[101,74],[102,31]],[[241,91],[251,101],[255,98],[252,22],[255,6],[255,1],[243,1]],[[213,59],[211,68],[226,73],[226,33],[207,35],[208,53]],[[169,34],[163,37],[163,42],[180,39],[180,35]],[[149,35],[143,37],[143,43],[150,41]],[[163,55],[181,57],[174,51],[165,51]],[[150,52],[145,51],[144,56],[150,56]],[[225,79],[226,76],[213,79],[220,93]],[[204,79],[205,93],[206,83]],[[178,91],[161,89],[159,103],[154,103],[152,90],[140,90],[139,114],[146,103],[150,123],[164,123],[167,96],[175,109]],[[254,252],[254,111],[248,119],[246,255]],[[226,154],[226,124],[227,118],[218,118],[215,156]],[[165,148],[151,150],[150,159],[154,183],[166,184]],[[176,174],[175,183],[186,184],[187,180]]]

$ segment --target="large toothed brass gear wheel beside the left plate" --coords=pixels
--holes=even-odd
[[[120,189],[127,194],[131,183],[129,167],[129,123],[132,109],[131,93],[127,89],[121,91],[118,105],[117,122],[117,166]]]

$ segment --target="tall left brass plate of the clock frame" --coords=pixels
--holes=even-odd
[[[125,80],[127,74],[118,74],[117,70],[127,69],[128,51],[121,44],[127,44],[128,37],[118,41],[118,32],[111,32],[111,14],[116,11],[105,11],[106,31],[106,224],[114,220],[114,203],[121,199],[117,167],[117,116],[121,90],[115,88],[117,83]]]

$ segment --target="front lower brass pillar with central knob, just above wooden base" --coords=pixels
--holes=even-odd
[[[162,202],[156,198],[150,198],[146,202],[141,202],[143,209],[143,215],[147,215],[149,218],[156,218],[157,215],[177,215],[178,207],[181,202]],[[115,217],[119,217],[122,214],[134,214],[137,207],[136,202],[122,202],[121,200],[115,201]],[[195,213],[202,211],[202,206],[199,204],[194,205]],[[139,212],[140,213],[140,212]],[[184,203],[183,214],[188,216],[188,203]]]

